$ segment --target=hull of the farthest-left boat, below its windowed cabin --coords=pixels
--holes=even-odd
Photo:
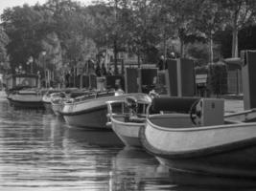
[[[39,90],[21,90],[9,96],[12,105],[17,108],[44,109]]]

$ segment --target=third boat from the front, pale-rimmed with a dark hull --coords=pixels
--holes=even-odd
[[[116,94],[115,92],[88,93],[64,103],[61,115],[69,125],[86,128],[111,130],[106,125],[106,101],[124,100],[127,96],[144,96],[144,94]]]

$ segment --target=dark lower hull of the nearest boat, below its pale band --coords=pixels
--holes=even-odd
[[[256,178],[255,154],[256,146],[200,158],[168,159],[166,156],[158,156],[156,159],[171,169],[216,176]]]

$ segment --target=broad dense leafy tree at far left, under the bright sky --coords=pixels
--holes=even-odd
[[[45,21],[49,14],[38,10],[38,6],[14,7],[1,15],[3,28],[10,37],[7,46],[12,70],[18,65],[26,68],[30,56],[37,57],[41,52],[41,39],[47,32]]]

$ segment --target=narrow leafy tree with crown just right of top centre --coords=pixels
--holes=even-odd
[[[141,60],[143,63],[148,61],[148,53],[151,53],[159,42],[159,29],[154,22],[154,5],[151,0],[133,0],[129,1],[128,9],[128,50],[137,54],[140,66]]]

